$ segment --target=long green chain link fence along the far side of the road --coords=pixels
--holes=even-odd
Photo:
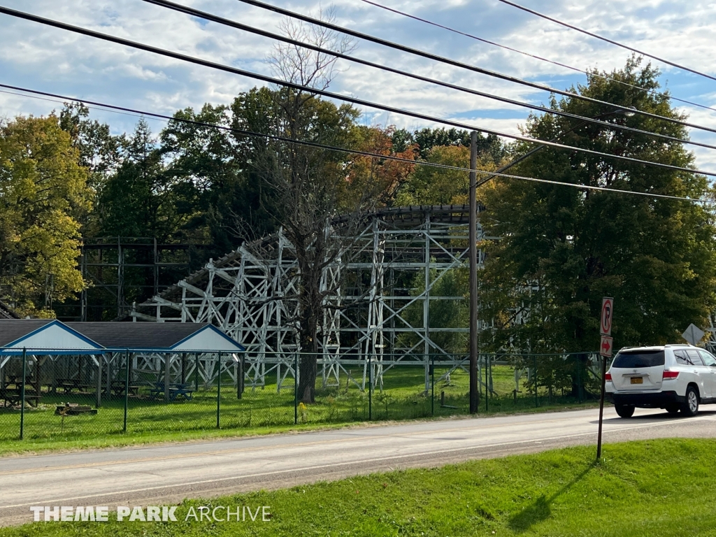
[[[299,354],[130,354],[0,359],[0,442],[266,429],[469,413],[468,357],[319,360],[315,402]],[[480,412],[596,400],[594,352],[483,354]]]

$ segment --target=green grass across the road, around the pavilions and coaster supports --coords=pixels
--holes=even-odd
[[[514,397],[513,368],[495,366],[492,369],[493,393],[487,405],[483,398],[480,415],[544,412],[594,405],[594,401],[579,405],[574,398],[552,397],[550,400],[546,394],[540,394],[539,407],[536,407],[534,395],[524,389],[523,394]],[[75,402],[93,406],[93,396],[45,394],[37,408],[26,407],[24,440],[19,440],[19,410],[0,408],[0,456],[316,430],[369,421],[467,415],[468,374],[458,370],[450,375],[450,382],[438,382],[446,371],[436,367],[435,387],[431,386],[425,392],[425,370],[422,367],[390,369],[384,374],[382,390],[374,390],[372,400],[369,400],[367,391],[359,390],[346,379],[341,386],[318,390],[314,405],[298,409],[294,409],[293,386],[284,385],[278,392],[275,376],[273,382],[263,389],[247,387],[241,400],[237,398],[235,389],[227,384],[221,387],[220,427],[216,427],[216,386],[194,392],[190,401],[165,403],[150,399],[147,393],[141,392],[141,397],[130,397],[126,432],[122,430],[124,397],[105,398],[97,415],[62,417],[54,414],[57,405]],[[357,376],[358,372],[355,373]],[[296,417],[297,423],[294,424]]]

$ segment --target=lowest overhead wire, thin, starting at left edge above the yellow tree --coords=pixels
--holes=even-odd
[[[263,132],[253,132],[251,130],[237,129],[236,127],[226,127],[225,125],[216,125],[216,123],[208,123],[208,122],[203,122],[203,121],[198,121],[198,120],[188,120],[185,117],[173,117],[170,115],[159,114],[157,112],[147,112],[145,110],[137,110],[135,108],[123,107],[123,106],[118,106],[118,105],[108,105],[105,102],[97,102],[97,101],[93,101],[93,100],[80,99],[77,97],[67,97],[66,95],[58,95],[56,93],[42,92],[37,89],[29,89],[26,87],[13,86],[10,84],[0,84],[0,87],[4,87],[6,89],[13,89],[14,91],[19,91],[19,92],[31,93],[33,95],[42,95],[43,97],[52,97],[53,99],[61,100],[62,102],[80,102],[83,105],[86,105],[88,107],[89,106],[97,107],[100,109],[110,110],[112,112],[117,112],[117,113],[127,113],[127,114],[131,114],[131,115],[139,115],[140,117],[141,116],[154,117],[154,118],[157,118],[160,120],[180,122],[180,123],[185,123],[187,125],[195,125],[198,127],[210,127],[210,128],[214,128],[214,129],[218,129],[218,130],[223,130],[226,132],[233,132],[238,135],[243,135],[243,136],[248,136],[248,137],[261,137],[265,140],[274,140],[276,142],[286,142],[289,144],[301,145],[304,147],[315,147],[317,149],[323,149],[323,150],[327,150],[327,151],[335,151],[337,153],[344,153],[347,155],[360,155],[360,156],[364,156],[364,157],[377,158],[377,159],[381,159],[381,160],[392,160],[392,161],[408,163],[408,164],[412,164],[412,165],[427,166],[429,168],[439,168],[442,170],[458,170],[458,171],[464,171],[466,173],[475,171],[475,170],[471,170],[470,168],[462,168],[460,166],[451,166],[448,164],[439,164],[439,163],[428,163],[423,160],[413,160],[410,158],[397,157],[395,155],[382,155],[380,153],[372,153],[370,151],[354,150],[354,149],[348,149],[347,147],[337,147],[334,145],[326,145],[326,144],[321,144],[318,142],[308,142],[305,140],[295,140],[294,138],[289,138],[289,137],[284,137],[284,136],[264,134]],[[14,95],[19,95],[19,94],[14,94]],[[37,97],[35,97],[35,98],[37,98]],[[632,194],[632,195],[639,195],[639,196],[647,196],[648,198],[660,198],[660,199],[668,199],[668,200],[687,201],[690,203],[707,203],[707,204],[716,203],[712,200],[686,198],[684,196],[678,196],[678,195],[658,194],[658,193],[651,193],[651,192],[638,192],[635,190],[624,190],[624,189],[619,189],[619,188],[609,188],[609,187],[603,187],[603,186],[583,185],[581,183],[562,183],[561,181],[556,181],[556,180],[539,179],[539,178],[533,178],[533,177],[526,177],[524,175],[511,175],[508,173],[499,173],[499,172],[492,172],[492,171],[486,171],[486,170],[476,170],[476,173],[478,173],[480,175],[487,175],[488,178],[502,177],[502,178],[508,178],[508,179],[525,180],[525,181],[530,181],[533,183],[546,183],[549,185],[558,185],[558,186],[565,186],[565,187],[571,187],[571,188],[579,188],[580,190],[597,190],[597,191],[601,191],[601,192]]]

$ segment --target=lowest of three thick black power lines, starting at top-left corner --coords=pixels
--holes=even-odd
[[[468,125],[466,123],[461,123],[461,122],[457,122],[457,121],[453,121],[453,120],[444,120],[440,117],[432,117],[430,115],[420,114],[418,112],[411,112],[410,110],[403,110],[402,108],[381,105],[376,102],[357,99],[355,97],[348,97],[347,95],[339,95],[334,92],[327,92],[324,89],[312,88],[312,87],[304,86],[302,84],[296,84],[294,82],[286,82],[285,80],[276,79],[274,77],[267,77],[266,75],[263,75],[263,74],[246,71],[244,69],[237,69],[236,67],[230,67],[228,65],[218,64],[216,62],[209,62],[208,60],[205,60],[205,59],[200,59],[200,58],[196,58],[193,56],[188,56],[186,54],[180,54],[178,52],[160,49],[158,47],[151,47],[150,45],[131,41],[130,39],[123,39],[121,37],[115,37],[115,36],[111,36],[108,34],[102,34],[101,32],[95,32],[94,30],[89,30],[89,29],[82,28],[79,26],[73,26],[72,24],[65,24],[64,22],[59,22],[59,21],[55,21],[52,19],[45,19],[44,17],[41,17],[41,16],[24,13],[23,11],[16,11],[14,9],[9,9],[9,8],[2,7],[2,6],[0,6],[0,13],[4,13],[7,15],[11,15],[11,16],[16,16],[16,17],[19,17],[20,19],[26,19],[29,21],[39,22],[40,24],[46,24],[47,26],[54,26],[55,28],[68,30],[69,32],[76,32],[78,34],[83,34],[88,37],[95,37],[97,39],[102,39],[102,40],[105,40],[108,42],[122,44],[126,47],[132,47],[135,49],[144,50],[146,52],[152,52],[153,54],[159,54],[161,56],[179,59],[183,62],[189,62],[189,63],[193,63],[193,64],[197,64],[197,65],[202,65],[203,67],[209,67],[211,69],[217,69],[217,70],[220,70],[223,72],[239,74],[244,77],[261,80],[261,82],[266,82],[268,84],[276,84],[279,86],[289,87],[291,89],[297,89],[302,92],[311,93],[314,95],[321,95],[323,97],[329,97],[330,99],[335,99],[335,100],[344,101],[344,102],[351,102],[354,105],[359,105],[359,106],[368,107],[368,108],[374,108],[377,110],[384,110],[385,112],[392,112],[395,114],[406,115],[409,117],[415,117],[416,119],[419,119],[419,120],[440,123],[442,125],[449,125],[450,127],[458,127],[459,129],[478,130],[480,132],[485,132],[486,134],[491,134],[491,135],[506,137],[506,138],[512,138],[513,140],[521,140],[523,142],[531,142],[531,143],[536,143],[536,144],[540,144],[540,145],[548,145],[550,147],[558,147],[559,149],[574,151],[577,153],[587,153],[589,155],[596,155],[601,158],[611,158],[614,160],[622,160],[624,162],[629,162],[629,163],[651,165],[651,166],[654,166],[657,168],[665,168],[668,170],[675,170],[675,171],[686,172],[686,173],[700,173],[702,175],[716,176],[715,172],[690,169],[690,168],[682,168],[681,166],[674,166],[674,165],[664,164],[664,163],[656,163],[656,162],[653,162],[652,160],[641,160],[638,158],[625,157],[623,155],[613,155],[611,153],[602,153],[601,151],[585,149],[583,147],[574,147],[572,145],[564,145],[564,144],[561,144],[558,142],[551,142],[548,140],[538,140],[537,138],[532,138],[532,137],[528,137],[528,136],[514,135],[514,134],[511,134],[508,132],[500,132],[498,130],[487,129],[485,127],[476,127],[475,125]]]

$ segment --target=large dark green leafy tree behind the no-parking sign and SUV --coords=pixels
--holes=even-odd
[[[596,74],[596,72],[595,72]],[[620,110],[683,119],[658,89],[658,72],[630,59],[624,69],[589,76],[572,91],[614,103],[613,108],[574,98],[551,106],[576,115],[687,139],[684,127]],[[639,89],[639,87],[645,89]],[[617,112],[617,113],[614,113]],[[525,131],[542,139],[604,153],[689,167],[693,155],[678,142],[581,125],[571,118],[533,116]],[[518,152],[530,147],[523,145]],[[523,161],[518,175],[702,198],[710,188],[700,175],[544,147]],[[496,179],[486,195],[483,225],[501,239],[488,246],[481,274],[483,312],[495,330],[483,342],[533,352],[594,350],[599,346],[603,296],[614,297],[614,343],[678,341],[690,324],[704,326],[716,305],[715,228],[697,203],[640,195],[585,191],[561,185]],[[520,320],[521,318],[521,320]]]

